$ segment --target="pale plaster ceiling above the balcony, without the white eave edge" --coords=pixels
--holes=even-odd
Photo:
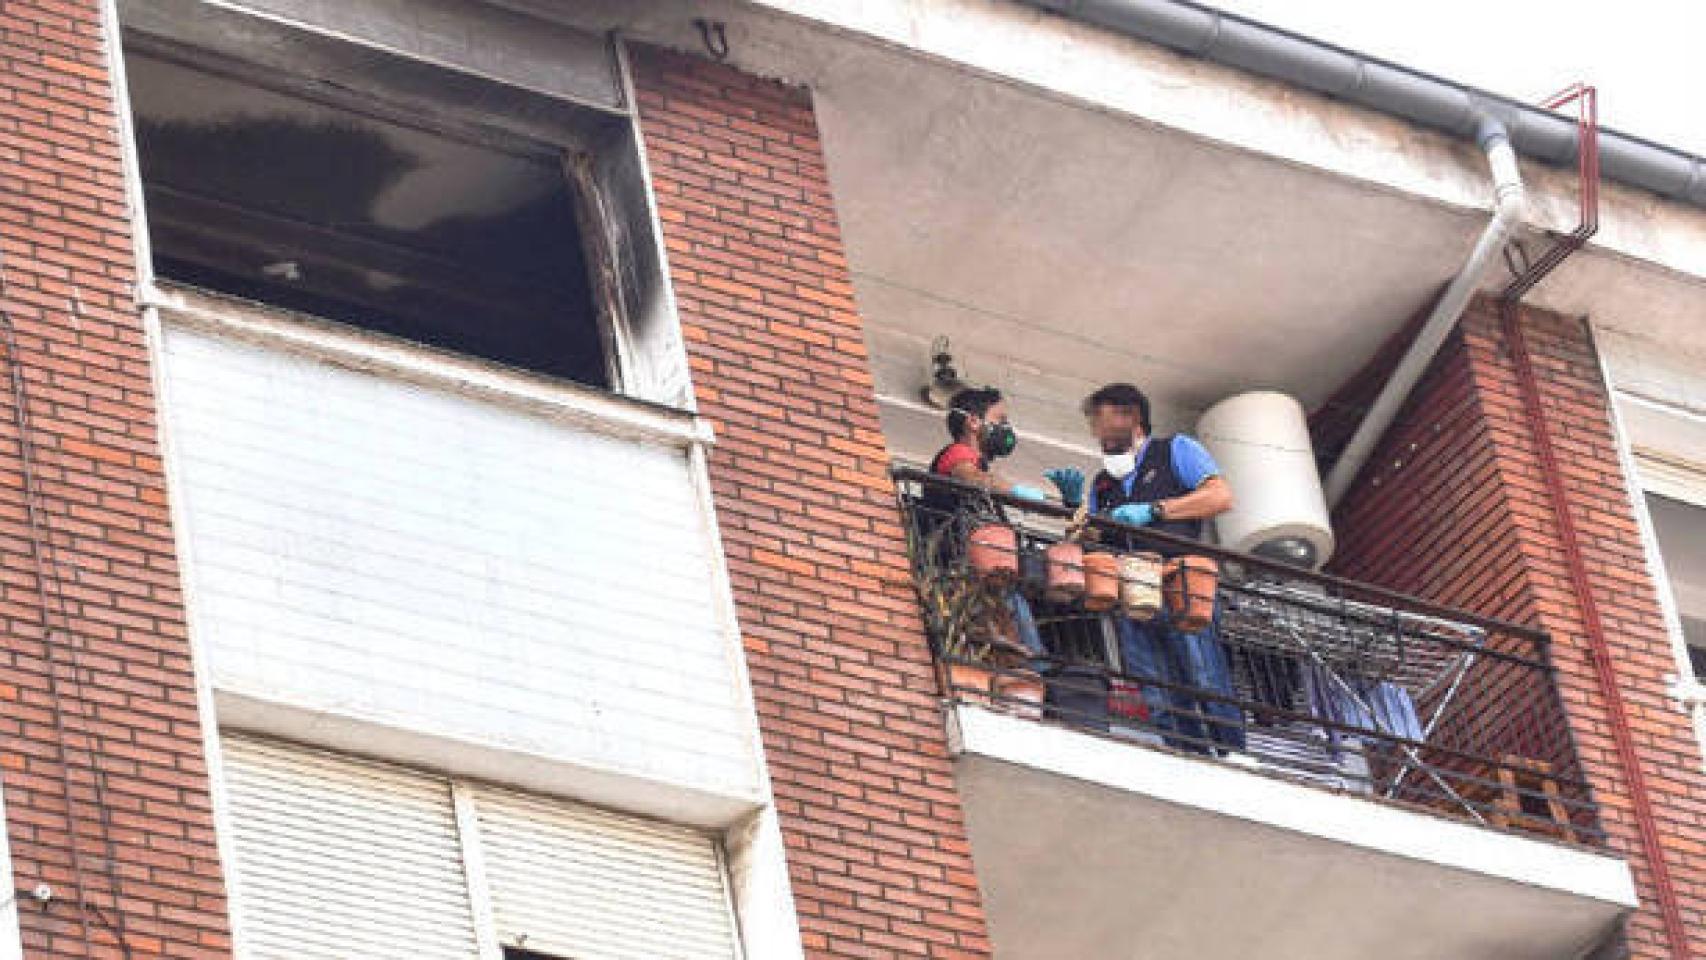
[[[1114,379],[1175,428],[1245,389],[1314,408],[1431,304],[1484,223],[930,61],[827,73],[819,123],[879,387],[916,392],[947,334],[966,373],[1063,438],[1073,401]],[[1662,312],[1679,293],[1588,259],[1535,298]]]

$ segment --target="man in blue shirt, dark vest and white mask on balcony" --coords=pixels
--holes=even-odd
[[[1152,437],[1150,401],[1131,384],[1109,384],[1083,401],[1083,414],[1102,448],[1102,471],[1090,484],[1090,512],[1119,523],[1201,539],[1203,523],[1232,510],[1232,488],[1210,452],[1182,433]],[[1068,501],[1083,489],[1083,474],[1066,467],[1047,472]],[[1073,503],[1075,505],[1075,503]],[[1181,547],[1117,537],[1124,549],[1163,556]],[[1116,621],[1119,656],[1126,674],[1233,696],[1232,670],[1215,622],[1201,633],[1181,633],[1165,612],[1152,622]],[[1177,747],[1211,752],[1244,749],[1244,713],[1220,701],[1182,691],[1145,687],[1150,716]]]

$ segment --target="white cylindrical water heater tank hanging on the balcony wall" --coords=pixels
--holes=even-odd
[[[1254,390],[1208,408],[1198,438],[1232,484],[1233,508],[1215,518],[1225,547],[1293,566],[1332,556],[1332,523],[1303,404]]]

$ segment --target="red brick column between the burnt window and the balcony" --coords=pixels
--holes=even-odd
[[[814,957],[984,957],[810,97],[641,49],[647,155]]]

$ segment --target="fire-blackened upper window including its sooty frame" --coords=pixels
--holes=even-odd
[[[618,43],[507,7],[119,0],[155,273],[691,406]]]

